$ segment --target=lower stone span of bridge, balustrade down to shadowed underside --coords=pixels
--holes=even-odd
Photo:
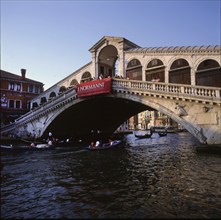
[[[182,125],[201,143],[221,144],[221,88],[112,79],[111,92],[78,97],[74,87],[2,127],[2,137],[84,138],[92,130],[106,135],[131,116],[157,110]]]

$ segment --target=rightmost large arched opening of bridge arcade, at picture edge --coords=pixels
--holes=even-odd
[[[197,68],[196,85],[221,87],[221,67],[215,60],[205,60]]]

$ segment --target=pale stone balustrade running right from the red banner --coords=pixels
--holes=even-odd
[[[207,86],[192,86],[184,84],[167,84],[160,82],[142,82],[137,80],[114,79],[112,88],[128,93],[181,97],[198,101],[221,103],[221,88]]]

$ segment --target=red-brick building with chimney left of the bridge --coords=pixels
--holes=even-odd
[[[44,84],[21,75],[1,70],[1,125],[9,124],[30,110],[30,101],[44,91]]]

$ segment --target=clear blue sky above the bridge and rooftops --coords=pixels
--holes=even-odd
[[[221,45],[220,0],[1,0],[1,69],[45,90],[91,61],[103,36],[141,47]]]

